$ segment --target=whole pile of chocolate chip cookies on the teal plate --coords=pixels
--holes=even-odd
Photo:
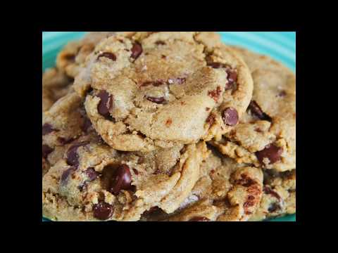
[[[42,77],[53,221],[296,212],[296,80],[213,32],[90,32]]]

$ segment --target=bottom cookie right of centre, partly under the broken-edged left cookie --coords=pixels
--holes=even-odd
[[[174,214],[161,210],[144,214],[144,221],[247,221],[263,194],[261,169],[236,164],[215,152],[201,166],[191,195]]]

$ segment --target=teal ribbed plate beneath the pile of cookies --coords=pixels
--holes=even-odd
[[[42,32],[42,71],[55,65],[61,48],[85,32]],[[220,32],[222,40],[275,58],[296,72],[296,32]],[[42,221],[49,221],[42,218]],[[270,221],[296,221],[296,214]]]

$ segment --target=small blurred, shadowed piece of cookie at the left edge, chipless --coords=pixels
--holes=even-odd
[[[70,92],[73,80],[56,68],[42,74],[42,112],[49,110],[56,100]]]

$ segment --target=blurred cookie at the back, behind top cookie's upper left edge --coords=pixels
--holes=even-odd
[[[92,53],[96,44],[102,39],[114,34],[131,36],[134,32],[88,32],[84,37],[77,41],[70,41],[58,53],[56,67],[65,72],[69,77],[76,77],[80,70],[80,65],[84,63],[89,53]]]

